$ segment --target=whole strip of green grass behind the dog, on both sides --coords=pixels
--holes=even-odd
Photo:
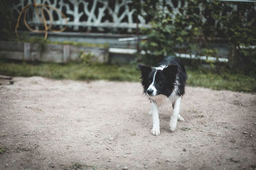
[[[252,75],[232,74],[228,71],[217,74],[207,69],[187,69],[187,73],[187,85],[189,86],[207,87],[214,90],[256,92],[256,78]],[[69,80],[140,81],[140,71],[136,65],[117,66],[77,62],[56,64],[0,60],[0,74]]]

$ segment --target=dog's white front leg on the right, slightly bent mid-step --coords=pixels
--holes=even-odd
[[[171,116],[171,120],[170,120],[170,130],[173,132],[176,128],[177,125],[177,120],[179,117],[179,110],[180,110],[180,101],[181,101],[181,97],[177,97],[177,99],[175,100],[174,104],[173,104],[173,113]]]

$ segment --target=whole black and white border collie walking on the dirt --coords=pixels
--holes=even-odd
[[[160,134],[159,109],[157,96],[166,96],[173,106],[173,113],[170,119],[170,130],[174,131],[177,120],[184,121],[179,114],[180,101],[185,93],[185,83],[188,78],[184,65],[177,57],[166,57],[156,67],[138,65],[141,69],[141,84],[144,93],[150,99],[152,108],[153,128],[151,133]]]

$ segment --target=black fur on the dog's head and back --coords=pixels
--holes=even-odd
[[[164,66],[164,69],[156,69],[157,67]],[[143,85],[143,91],[147,94],[148,87],[154,79],[154,87],[157,90],[157,94],[163,94],[166,97],[170,97],[175,88],[176,78],[179,82],[177,94],[182,96],[185,93],[185,83],[188,78],[184,65],[177,57],[166,57],[156,67],[149,67],[144,65],[138,65],[141,70],[141,84]]]

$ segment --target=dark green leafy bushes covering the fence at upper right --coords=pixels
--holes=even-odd
[[[154,8],[150,8],[150,2],[141,5],[146,15],[152,17],[152,27],[141,29],[148,35],[147,40],[141,41],[141,49],[147,52],[147,59],[152,63],[176,52],[216,56],[218,51],[211,43],[221,39],[221,43],[233,49],[228,66],[232,69],[241,64],[246,66],[243,69],[256,67],[256,50],[239,48],[256,45],[255,3],[186,1],[188,5],[179,8],[179,13],[173,16],[172,8],[165,1],[154,1]],[[237,10],[232,8],[233,4],[237,4]]]

